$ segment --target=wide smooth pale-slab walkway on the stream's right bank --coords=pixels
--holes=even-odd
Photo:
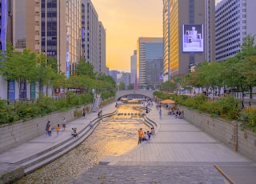
[[[137,149],[124,154],[110,164],[131,166],[173,166],[173,165],[209,165],[213,163],[229,163],[243,165],[251,161],[230,150],[222,142],[186,122],[174,118],[162,110],[162,118],[158,110],[152,110],[148,117],[158,122],[157,134],[149,142],[143,142]],[[148,154],[145,154],[148,153]]]

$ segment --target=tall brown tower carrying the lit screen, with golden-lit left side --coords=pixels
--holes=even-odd
[[[163,78],[215,61],[214,1],[163,0]]]

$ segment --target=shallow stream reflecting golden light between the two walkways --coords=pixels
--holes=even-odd
[[[82,144],[54,162],[35,170],[15,182],[25,183],[66,183],[72,181],[107,156],[119,156],[138,145],[138,129],[150,130],[142,118],[128,118],[124,113],[145,113],[140,105],[119,106],[118,114],[105,118]]]

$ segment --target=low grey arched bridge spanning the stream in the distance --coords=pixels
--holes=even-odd
[[[126,96],[138,96],[142,95],[142,98],[154,98],[154,90],[118,90],[115,94],[115,100],[119,100],[122,97]]]

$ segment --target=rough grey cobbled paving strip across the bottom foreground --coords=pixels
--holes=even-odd
[[[224,178],[213,166],[94,166],[72,184],[222,184]]]

